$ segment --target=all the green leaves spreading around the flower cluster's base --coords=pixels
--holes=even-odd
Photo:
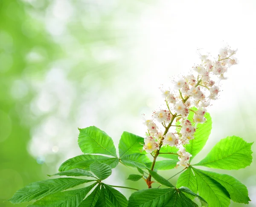
[[[191,119],[192,116],[190,113],[189,118]],[[194,156],[204,147],[211,130],[209,114],[206,115],[206,118],[207,123],[198,124],[195,140],[186,145],[186,150]],[[87,142],[94,144],[86,145]],[[95,180],[57,178],[38,181],[18,190],[9,201],[21,203],[40,199],[35,201],[31,207],[198,207],[192,201],[194,198],[201,201],[202,207],[208,207],[208,204],[209,206],[228,207],[230,199],[238,203],[249,203],[250,198],[248,197],[247,188],[236,178],[230,175],[198,170],[192,165],[186,167],[185,171],[180,174],[177,187],[175,187],[156,171],[170,170],[177,165],[177,148],[162,147],[160,153],[168,154],[160,155],[168,159],[162,161],[154,159],[154,161],[151,161],[147,155],[140,152],[142,149],[141,143],[143,143],[143,138],[124,132],[119,142],[120,158],[117,158],[113,141],[105,132],[95,126],[80,129],[79,146],[83,152],[102,153],[114,157],[90,154],[79,155],[61,164],[59,173],[49,176],[88,176],[95,178]],[[250,165],[252,161],[251,145],[252,143],[247,143],[239,137],[227,137],[217,143],[206,158],[195,165],[226,170],[244,168]],[[102,183],[111,175],[111,168],[116,167],[119,162],[128,167],[136,167],[141,174],[131,174],[127,178],[128,180],[139,181],[143,177],[149,178],[144,175],[143,170],[146,169],[156,182],[168,188],[138,190],[131,194],[128,201],[118,190]],[[154,169],[150,170],[153,162]],[[67,190],[92,181],[94,183],[90,186]],[[147,182],[148,186],[151,186],[151,183],[155,181]],[[91,192],[90,195],[86,197],[89,192]]]

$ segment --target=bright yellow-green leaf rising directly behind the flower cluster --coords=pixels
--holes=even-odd
[[[193,119],[192,119],[193,116],[194,116],[194,112],[190,111],[188,119],[192,121],[192,123],[193,123]],[[189,144],[184,145],[186,152],[189,152],[192,155],[189,162],[191,162],[192,159],[195,157],[195,155],[197,155],[198,152],[200,152],[203,149],[211,133],[212,118],[210,117],[209,113],[205,113],[204,117],[206,118],[207,121],[203,124],[196,125],[197,129],[194,134],[195,139],[190,140]]]

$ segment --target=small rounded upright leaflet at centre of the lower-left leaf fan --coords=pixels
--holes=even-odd
[[[101,181],[108,178],[112,173],[111,167],[109,167],[109,165],[100,163],[98,161],[95,161],[93,164],[90,165],[90,170]]]

